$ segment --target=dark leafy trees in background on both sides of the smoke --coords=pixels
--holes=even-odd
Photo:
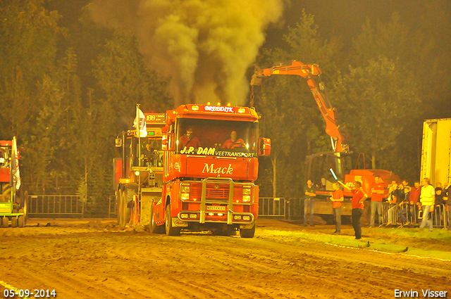
[[[319,64],[353,151],[415,179],[422,121],[451,115],[450,32],[435,30],[451,27],[450,7],[434,1],[423,14],[416,23],[396,13],[386,23],[368,19],[345,49],[304,12],[285,44],[261,49],[257,63]],[[78,193],[99,213],[113,193],[116,135],[130,129],[136,103],[146,112],[173,108],[171,78],[149,68],[131,32],[96,25],[86,8],[78,16],[62,22],[43,0],[0,2],[0,137],[17,136],[30,193]],[[261,136],[273,143],[261,159],[261,195],[298,197],[305,156],[330,147],[321,114],[296,76],[271,77],[255,95]]]

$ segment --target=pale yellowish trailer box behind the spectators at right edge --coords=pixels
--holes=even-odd
[[[421,148],[421,179],[435,186],[451,182],[451,118],[425,120]]]

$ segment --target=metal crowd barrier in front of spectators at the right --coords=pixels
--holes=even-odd
[[[396,203],[382,203],[382,224],[406,224],[408,222],[414,226],[419,226],[423,218],[421,208],[419,209],[417,205],[406,205],[406,207],[404,209]],[[407,222],[402,221],[400,214],[404,214]],[[447,227],[447,206],[435,205],[434,212],[429,213],[429,217],[432,217],[433,227]]]

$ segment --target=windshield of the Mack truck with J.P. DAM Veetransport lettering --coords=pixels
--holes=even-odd
[[[257,154],[257,122],[181,118],[175,129],[176,153],[248,158]]]

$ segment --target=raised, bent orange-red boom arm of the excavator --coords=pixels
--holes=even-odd
[[[265,69],[256,67],[252,76],[251,85],[259,85],[262,77],[270,77],[271,75],[298,75],[307,80],[316,105],[318,105],[321,115],[326,120],[326,133],[330,136],[333,151],[346,152],[348,148],[347,145],[343,144],[344,138],[335,120],[335,108],[330,105],[323,83],[321,82],[321,77],[319,77],[321,75],[319,65],[309,65],[300,61],[292,61],[291,65],[280,65]]]

